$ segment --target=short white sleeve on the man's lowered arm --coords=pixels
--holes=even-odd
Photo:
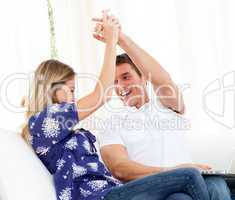
[[[111,124],[111,123],[106,123]],[[112,128],[112,126],[105,127],[104,130],[98,134],[98,144],[101,147],[112,144],[120,144],[125,146],[125,143],[121,136],[121,130]]]

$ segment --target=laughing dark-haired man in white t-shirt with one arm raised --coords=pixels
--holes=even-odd
[[[98,29],[102,29],[100,25]],[[102,40],[99,34],[95,37]],[[126,54],[117,56],[115,84],[126,110],[114,114],[119,126],[106,128],[100,136],[101,155],[107,167],[124,182],[180,167],[211,169],[193,164],[188,155],[183,141],[188,129],[183,117],[185,105],[169,73],[123,32],[119,45]],[[154,95],[147,92],[147,80]],[[107,124],[113,124],[112,120]],[[205,182],[212,200],[231,199],[222,178],[205,177]]]

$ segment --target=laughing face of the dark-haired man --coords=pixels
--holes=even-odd
[[[123,63],[116,67],[115,91],[125,105],[137,107],[143,103],[145,84],[145,79],[130,64]]]

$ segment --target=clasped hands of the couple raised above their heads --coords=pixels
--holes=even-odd
[[[117,44],[120,36],[121,25],[113,15],[109,16],[108,11],[103,11],[102,18],[93,18],[96,21],[94,38],[105,43]]]

